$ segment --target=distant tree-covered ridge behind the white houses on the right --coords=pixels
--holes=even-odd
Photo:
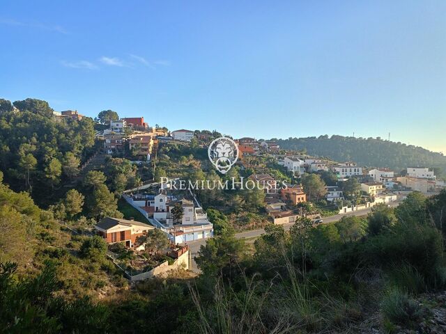
[[[362,166],[389,167],[402,170],[407,166],[426,166],[446,171],[446,157],[424,148],[380,138],[318,136],[277,140],[284,150],[307,150],[308,154],[336,161],[356,161]]]

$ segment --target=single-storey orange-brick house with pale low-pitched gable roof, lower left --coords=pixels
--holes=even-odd
[[[105,217],[95,225],[96,232],[103,237],[107,244],[123,242],[126,247],[134,247],[137,237],[140,237],[154,227],[139,221]]]

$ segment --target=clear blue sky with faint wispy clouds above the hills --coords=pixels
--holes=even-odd
[[[2,1],[0,97],[446,153],[446,1]]]

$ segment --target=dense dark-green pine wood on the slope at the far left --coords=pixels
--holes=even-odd
[[[95,151],[93,120],[56,119],[49,104],[36,99],[14,102],[16,109],[6,100],[2,106],[4,182],[16,191],[29,191],[40,205],[54,203],[61,196],[59,189],[63,191],[61,184],[70,182],[81,161]]]

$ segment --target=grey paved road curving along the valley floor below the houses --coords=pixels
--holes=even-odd
[[[397,200],[395,202],[391,202],[389,205],[390,207],[397,207],[401,200]],[[334,216],[325,217],[323,218],[323,223],[334,223],[335,221],[339,221],[344,216],[365,216],[371,212],[371,208],[362,209],[355,212],[347,212],[346,214],[336,214]],[[293,226],[294,223],[288,223],[283,224],[282,226],[286,231],[288,231],[291,226]],[[265,233],[265,230],[263,228],[259,230],[250,230],[245,232],[240,232],[236,234],[237,239],[252,239],[256,237],[260,237],[262,234]],[[200,250],[201,245],[206,244],[206,239],[196,240],[196,241],[189,241],[187,242],[187,245],[189,246],[189,249],[192,253],[192,271],[199,272],[199,269],[197,268],[197,264],[195,263],[194,257],[197,256],[198,251]]]

